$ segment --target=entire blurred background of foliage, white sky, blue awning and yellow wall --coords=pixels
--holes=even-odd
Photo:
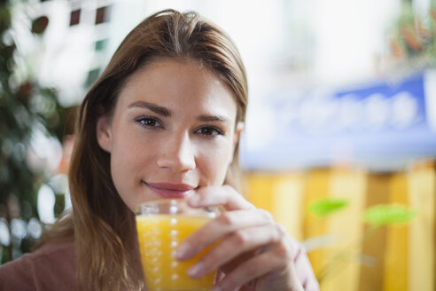
[[[0,256],[71,206],[74,113],[128,31],[194,10],[250,86],[245,194],[322,290],[435,290],[435,0],[0,1]]]

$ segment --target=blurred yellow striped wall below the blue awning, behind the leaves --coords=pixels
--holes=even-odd
[[[248,199],[307,244],[323,291],[435,290],[434,163],[417,162],[395,173],[345,168],[252,172],[246,181]],[[327,217],[308,213],[308,205],[327,197],[346,199],[349,205]],[[411,224],[373,231],[362,213],[378,204],[407,205],[418,215]]]

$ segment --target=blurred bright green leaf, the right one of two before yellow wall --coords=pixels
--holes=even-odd
[[[363,213],[363,220],[373,226],[409,223],[417,216],[417,210],[398,204],[379,204]]]

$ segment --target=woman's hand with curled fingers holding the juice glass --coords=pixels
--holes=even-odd
[[[191,278],[218,269],[225,276],[214,291],[303,289],[294,269],[290,238],[268,211],[255,208],[229,185],[201,188],[188,203],[193,207],[222,205],[227,210],[177,249],[177,258],[187,260],[220,240],[191,266]]]

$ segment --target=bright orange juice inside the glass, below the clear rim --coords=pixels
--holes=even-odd
[[[186,274],[207,249],[189,261],[177,261],[174,257],[178,245],[209,219],[166,214],[136,216],[141,261],[149,290],[210,290],[214,286],[214,272],[200,279],[191,279]]]

